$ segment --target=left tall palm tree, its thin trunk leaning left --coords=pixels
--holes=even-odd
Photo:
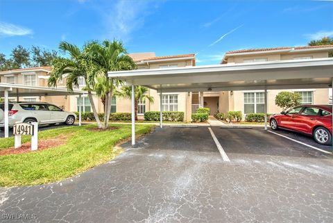
[[[94,76],[98,72],[94,64],[87,60],[85,51],[87,46],[83,49],[78,48],[74,44],[68,42],[60,42],[59,48],[62,51],[69,53],[70,58],[57,57],[53,60],[53,67],[51,70],[50,78],[48,81],[49,87],[56,87],[57,83],[66,77],[66,87],[69,92],[73,92],[73,88],[78,88],[79,79],[85,80],[85,90],[88,92],[92,112],[96,119],[97,125],[101,128],[101,121],[92,99],[92,89],[94,88]]]

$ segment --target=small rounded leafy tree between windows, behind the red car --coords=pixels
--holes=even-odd
[[[275,97],[275,104],[282,108],[282,110],[287,110],[294,106],[299,106],[302,96],[297,92],[280,92]]]

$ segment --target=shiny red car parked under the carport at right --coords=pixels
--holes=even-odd
[[[312,135],[319,144],[332,144],[332,106],[302,105],[271,115],[271,129]]]

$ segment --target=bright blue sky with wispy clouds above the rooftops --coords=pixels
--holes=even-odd
[[[197,65],[218,64],[229,50],[333,36],[332,12],[333,1],[0,0],[0,52],[117,38],[130,53],[198,53]]]

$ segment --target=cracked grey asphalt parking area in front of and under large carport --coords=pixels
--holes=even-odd
[[[1,188],[0,219],[333,222],[332,156],[261,129],[212,131],[230,162],[207,127],[157,128],[136,148],[123,144],[119,157],[71,179]],[[22,215],[31,220],[13,220]]]

